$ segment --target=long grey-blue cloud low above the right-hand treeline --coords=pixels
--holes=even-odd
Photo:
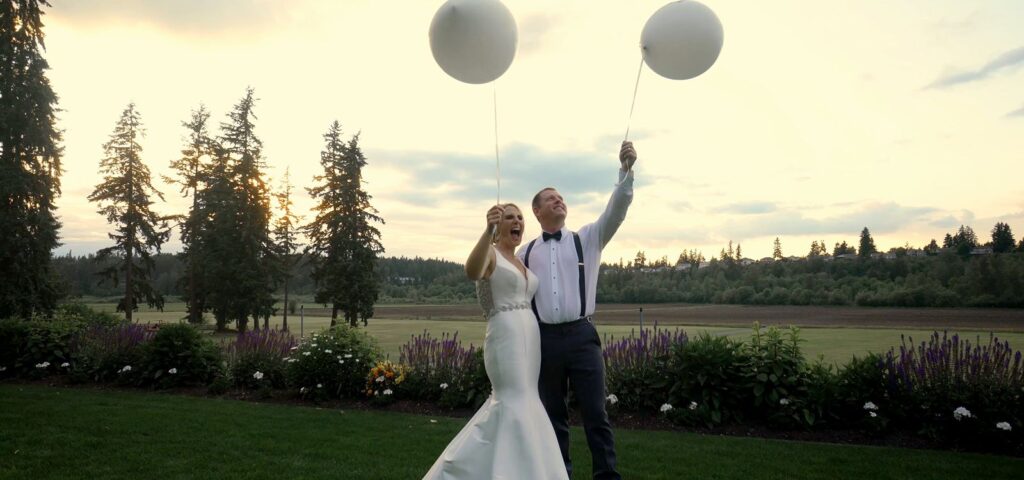
[[[865,226],[872,233],[898,231],[929,222],[941,212],[930,207],[905,207],[895,203],[870,204],[860,210],[826,218],[810,218],[797,209],[776,209],[768,214],[730,219],[722,226],[729,237],[765,235],[816,235],[859,233]]]

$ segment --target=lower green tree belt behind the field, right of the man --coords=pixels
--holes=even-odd
[[[695,268],[605,265],[599,303],[1024,307],[1024,254],[815,256]]]

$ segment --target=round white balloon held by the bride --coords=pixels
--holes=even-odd
[[[466,83],[501,77],[515,57],[512,12],[498,0],[447,0],[430,23],[430,51],[444,73]]]

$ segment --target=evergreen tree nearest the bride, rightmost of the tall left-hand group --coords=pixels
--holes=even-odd
[[[377,256],[384,249],[375,223],[384,220],[370,205],[371,197],[362,190],[362,167],[366,158],[358,146],[358,135],[346,144],[341,125],[335,121],[324,134],[321,151],[324,174],[314,177],[316,184],[307,188],[316,201],[313,220],[306,225],[315,301],[331,304],[331,324],[343,312],[349,325],[358,319],[364,324],[373,316],[379,286],[374,273]]]

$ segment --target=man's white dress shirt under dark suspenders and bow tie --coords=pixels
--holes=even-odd
[[[601,267],[601,250],[618,230],[626,219],[626,211],[633,202],[633,170],[618,170],[618,183],[611,192],[611,199],[604,212],[594,223],[580,228],[580,243],[583,245],[584,275],[587,286],[587,306],[583,316],[593,315],[597,304],[597,278]],[[572,231],[562,226],[562,238],[544,242],[543,235],[535,241],[529,253],[529,269],[537,275],[537,312],[544,323],[564,323],[580,315],[580,267],[577,261]],[[526,263],[526,249],[523,244],[516,256]]]

